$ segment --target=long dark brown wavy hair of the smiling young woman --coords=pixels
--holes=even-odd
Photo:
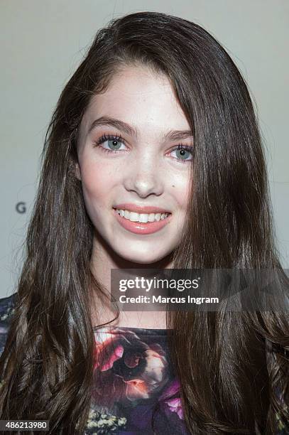
[[[1,419],[48,419],[82,434],[93,379],[93,225],[75,176],[77,131],[114,73],[170,80],[193,131],[194,188],[174,267],[278,268],[261,135],[244,78],[204,28],[138,12],[100,29],[53,113],[0,360]],[[99,293],[100,294],[100,293]],[[288,318],[277,311],[168,313],[170,355],[191,434],[274,434],[288,421]],[[277,391],[283,393],[283,402]],[[287,403],[287,405],[286,405]]]

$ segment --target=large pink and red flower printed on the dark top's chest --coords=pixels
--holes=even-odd
[[[102,330],[96,338],[94,374],[98,385],[92,390],[96,402],[111,404],[111,391],[102,391],[102,385],[114,390],[113,402],[149,399],[168,381],[165,351],[159,343],[146,343],[146,336],[132,329]],[[97,361],[99,360],[99,361]]]

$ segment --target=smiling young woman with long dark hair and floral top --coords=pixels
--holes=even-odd
[[[1,301],[0,417],[49,434],[285,434],[287,314],[115,316],[111,269],[139,268],[280,269],[244,79],[207,31],[156,12],[97,32],[58,101]]]

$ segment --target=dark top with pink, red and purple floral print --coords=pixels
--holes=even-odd
[[[0,299],[0,355],[13,296]],[[104,326],[94,330],[94,339],[94,382],[84,435],[189,434],[180,383],[170,363],[167,331]],[[276,435],[285,434],[289,431],[278,420]]]

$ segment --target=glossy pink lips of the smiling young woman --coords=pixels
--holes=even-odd
[[[123,206],[123,204],[121,204]],[[124,208],[121,208],[120,205],[117,206],[117,208],[124,210]],[[150,207],[146,207],[146,210],[148,210]],[[133,206],[133,211],[136,211],[136,206]],[[139,209],[139,208],[138,208]],[[141,211],[136,211],[136,213],[168,213],[165,212],[165,210],[160,208],[153,208],[153,211],[144,211],[144,208],[141,208]],[[126,210],[128,210],[126,208]],[[163,210],[162,212],[156,211],[156,210]],[[115,209],[113,209],[114,215],[116,216],[116,219],[118,220],[119,224],[124,227],[126,230],[130,232],[134,232],[135,234],[153,234],[153,232],[157,232],[161,230],[165,225],[167,225],[170,222],[170,218],[172,218],[172,215],[168,215],[168,218],[165,218],[163,220],[155,221],[155,222],[131,222],[131,220],[123,218],[122,216],[117,213]],[[130,211],[130,210],[129,210]]]

